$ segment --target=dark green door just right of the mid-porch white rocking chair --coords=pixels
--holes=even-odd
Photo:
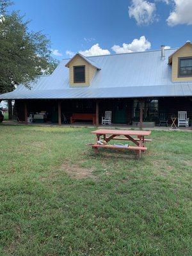
[[[125,102],[115,102],[114,113],[114,123],[127,124],[127,108]]]

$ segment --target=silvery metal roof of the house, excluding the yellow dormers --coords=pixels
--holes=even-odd
[[[102,99],[128,97],[192,96],[192,81],[172,82],[168,56],[177,49],[134,52],[88,57],[97,63],[89,86],[72,87],[69,72],[61,61],[51,76],[40,76],[31,90],[20,84],[16,90],[0,95],[0,99]]]

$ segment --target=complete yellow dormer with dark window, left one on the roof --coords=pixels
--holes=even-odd
[[[70,86],[90,86],[93,76],[100,70],[96,63],[79,53],[65,67],[69,68]]]

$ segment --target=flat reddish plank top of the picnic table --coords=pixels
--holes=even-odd
[[[151,131],[127,131],[127,130],[112,130],[112,129],[98,129],[96,131],[92,131],[94,134],[113,134],[113,135],[139,135],[139,136],[147,136],[151,134]]]

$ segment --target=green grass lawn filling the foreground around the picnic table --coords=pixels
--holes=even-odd
[[[90,131],[0,126],[0,255],[191,255],[192,132],[137,160]]]

